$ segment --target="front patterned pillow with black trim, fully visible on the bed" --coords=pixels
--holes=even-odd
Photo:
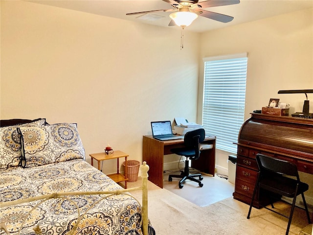
[[[85,159],[85,149],[75,124],[20,127],[22,167]]]

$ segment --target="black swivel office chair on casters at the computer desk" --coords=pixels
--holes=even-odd
[[[182,183],[185,182],[185,180],[192,180],[197,183],[199,183],[199,186],[202,187],[203,184],[201,183],[201,180],[203,180],[203,177],[201,174],[189,174],[189,160],[197,160],[200,157],[200,143],[204,141],[205,138],[205,131],[204,129],[197,129],[193,131],[189,131],[184,136],[184,144],[185,147],[182,148],[173,148],[171,149],[172,153],[175,153],[180,156],[185,156],[185,169],[181,172],[180,175],[169,175],[168,181],[172,181],[172,177],[175,178],[181,178],[179,181],[179,188],[182,188]],[[195,179],[195,177],[199,177],[199,180]]]

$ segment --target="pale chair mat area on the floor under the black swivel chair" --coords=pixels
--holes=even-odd
[[[179,188],[179,178],[173,178],[172,182],[168,181],[170,174],[180,174],[180,172],[167,172],[164,174],[163,188],[185,198],[200,207],[206,207],[218,201],[232,197],[235,185],[229,183],[226,179],[202,174],[203,180],[201,181],[203,187],[190,180],[186,180],[183,188]]]

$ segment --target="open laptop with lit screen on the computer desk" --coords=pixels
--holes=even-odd
[[[176,136],[173,134],[171,121],[152,121],[151,129],[153,138],[159,141],[169,141],[184,138],[184,136]]]

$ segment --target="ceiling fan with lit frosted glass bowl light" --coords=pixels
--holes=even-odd
[[[234,18],[216,12],[206,11],[202,8],[225,6],[240,3],[240,0],[205,0],[199,2],[198,0],[163,0],[172,5],[172,9],[152,10],[128,13],[126,15],[146,14],[152,12],[173,12],[170,15],[172,19],[169,26],[178,25],[185,27],[190,25],[198,16],[206,17],[215,21],[227,23]],[[189,19],[190,18],[190,19]],[[182,22],[180,22],[180,20]]]

